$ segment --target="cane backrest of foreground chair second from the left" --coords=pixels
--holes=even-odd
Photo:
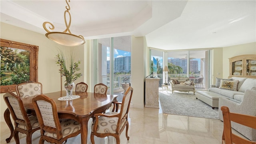
[[[54,100],[40,94],[32,99],[32,104],[36,111],[41,135],[44,135],[45,132],[55,133],[56,139],[60,140],[62,138],[62,130]]]

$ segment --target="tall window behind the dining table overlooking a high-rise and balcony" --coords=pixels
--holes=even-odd
[[[98,78],[94,79],[108,86],[108,94],[124,92],[130,86],[130,49],[130,36],[98,39]]]

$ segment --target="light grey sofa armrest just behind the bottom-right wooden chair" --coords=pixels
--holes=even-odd
[[[246,90],[244,92],[244,98],[240,104],[228,98],[219,97],[219,118],[223,120],[221,106],[227,106],[230,112],[238,114],[246,114],[256,116],[256,90]]]

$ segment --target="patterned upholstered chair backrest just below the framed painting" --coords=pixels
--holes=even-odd
[[[16,93],[20,97],[29,97],[42,94],[42,84],[40,82],[23,82],[16,85]]]

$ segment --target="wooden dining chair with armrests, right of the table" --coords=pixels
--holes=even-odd
[[[130,108],[130,102],[132,98],[133,88],[129,87],[124,93],[120,112],[106,112],[105,114],[94,114],[94,122],[92,124],[91,142],[94,144],[94,136],[103,138],[106,136],[114,136],[116,138],[116,144],[120,144],[120,134],[126,127],[126,138],[128,136],[128,112]]]

